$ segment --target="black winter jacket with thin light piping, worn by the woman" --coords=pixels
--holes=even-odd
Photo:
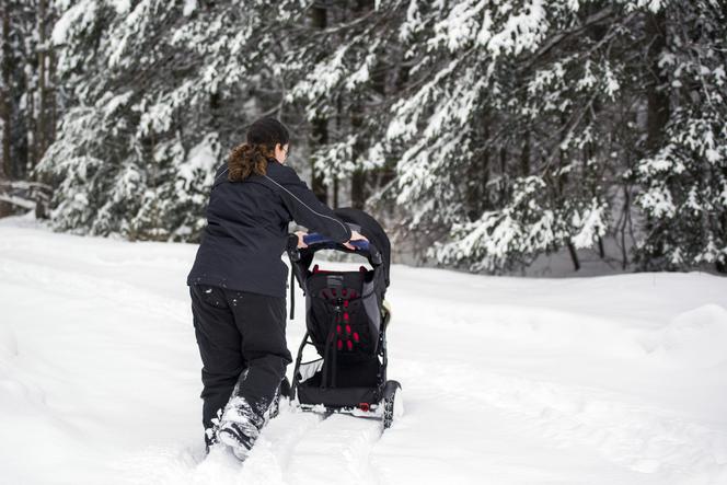
[[[227,164],[215,174],[207,227],[187,285],[205,284],[274,297],[286,296],[288,223],[346,242],[348,224],[321,203],[295,170],[269,159],[266,175],[229,182]]]

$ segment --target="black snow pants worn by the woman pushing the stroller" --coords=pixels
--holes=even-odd
[[[189,293],[203,361],[205,430],[233,390],[262,417],[292,361],[286,344],[285,297],[209,285],[191,285]],[[207,434],[205,440],[211,442]]]

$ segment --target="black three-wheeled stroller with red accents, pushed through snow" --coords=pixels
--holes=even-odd
[[[290,317],[295,314],[293,281],[305,296],[305,335],[298,349],[292,384],[288,394],[303,411],[348,413],[376,417],[383,429],[402,411],[401,384],[386,380],[386,327],[391,311],[384,295],[389,287],[391,245],[381,226],[368,213],[342,208],[336,216],[369,241],[354,241],[356,250],[308,234],[308,247],[298,249],[298,238],[290,234]],[[366,257],[372,269],[333,272],[311,269],[320,250],[356,253]],[[303,361],[303,350],[315,347],[316,358]]]

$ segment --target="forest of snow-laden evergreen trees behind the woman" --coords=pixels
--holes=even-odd
[[[0,216],[197,242],[215,168],[270,115],[399,261],[727,272],[723,1],[1,8]]]

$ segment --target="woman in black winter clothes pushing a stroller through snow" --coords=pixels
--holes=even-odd
[[[207,207],[207,227],[187,276],[203,369],[207,451],[252,448],[292,358],[286,344],[286,281],[280,259],[288,223],[354,246],[366,239],[321,203],[285,165],[288,130],[262,118],[220,166]],[[304,246],[299,231],[299,246]]]

